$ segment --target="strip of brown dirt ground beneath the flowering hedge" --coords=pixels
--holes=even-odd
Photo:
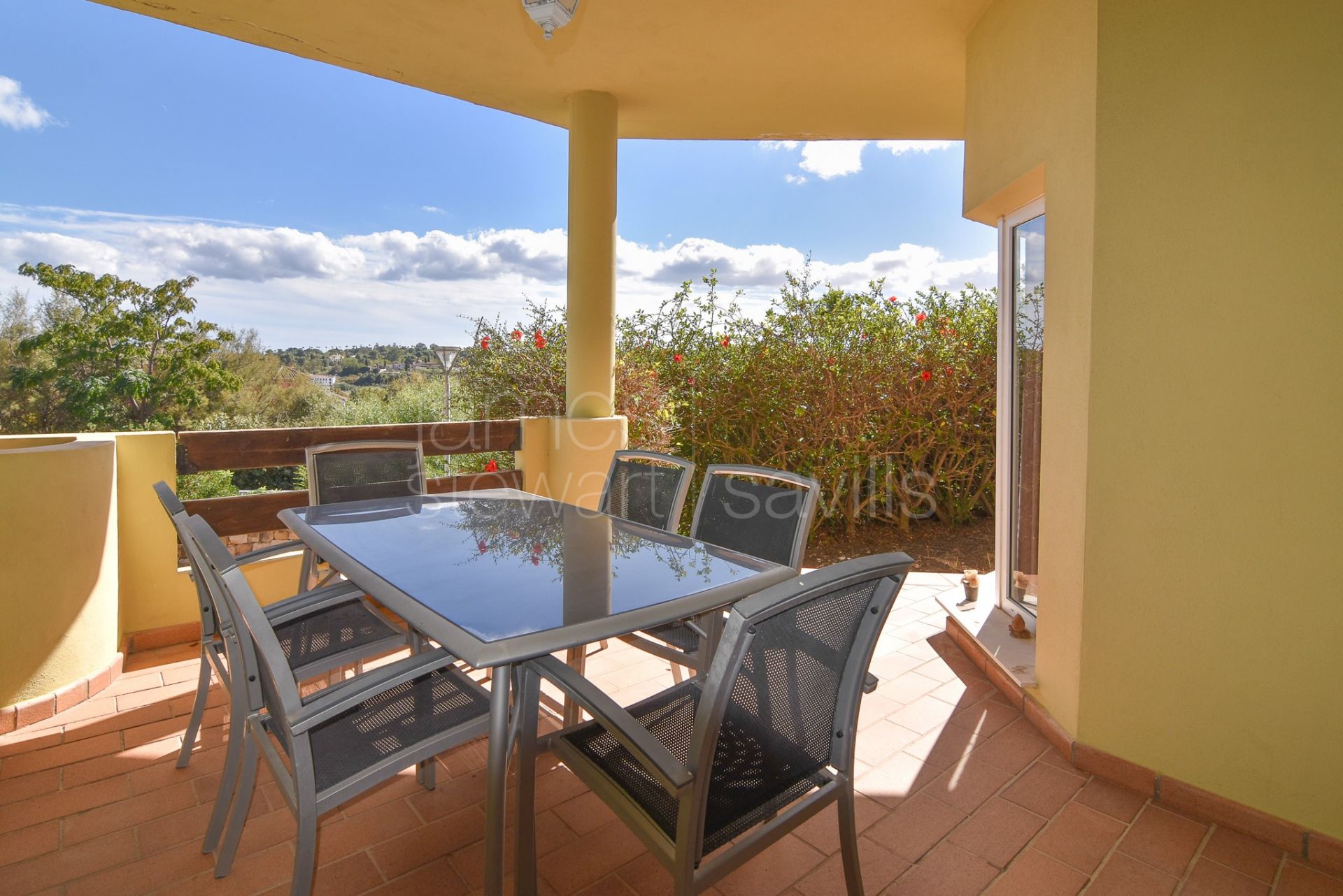
[[[908,533],[890,523],[868,522],[854,535],[826,527],[813,533],[804,562],[807,566],[825,566],[885,551],[909,554],[915,558],[915,569],[924,573],[990,570],[994,567],[994,520],[976,516],[964,526],[921,520],[911,523]]]

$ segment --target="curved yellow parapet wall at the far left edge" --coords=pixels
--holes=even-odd
[[[0,445],[0,706],[9,706],[117,652],[115,443]]]

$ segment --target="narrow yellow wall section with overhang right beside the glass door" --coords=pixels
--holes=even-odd
[[[1038,697],[1078,720],[1095,213],[1096,5],[998,0],[967,48],[967,217],[1048,192]]]

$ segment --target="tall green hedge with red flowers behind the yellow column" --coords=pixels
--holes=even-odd
[[[616,413],[630,444],[710,463],[791,469],[823,487],[823,518],[992,510],[997,295],[846,292],[788,275],[763,321],[716,274],[619,321]],[[564,413],[560,311],[475,321],[454,396],[477,418]],[[454,397],[454,402],[457,398]]]

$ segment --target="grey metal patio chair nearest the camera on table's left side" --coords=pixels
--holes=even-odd
[[[234,620],[236,680],[250,711],[238,731],[243,759],[215,876],[232,868],[265,757],[298,822],[293,896],[312,892],[317,818],[415,766],[434,787],[434,757],[486,734],[489,691],[443,649],[424,651],[302,697],[278,626],[247,578],[199,516],[187,520],[211,587]],[[236,738],[236,735],[234,735]]]

